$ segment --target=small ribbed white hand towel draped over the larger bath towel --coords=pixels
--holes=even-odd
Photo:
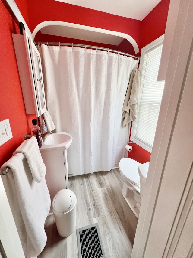
[[[13,153],[24,153],[30,167],[30,171],[36,182],[41,182],[46,174],[46,166],[43,163],[36,137],[31,137],[22,142],[22,144]]]

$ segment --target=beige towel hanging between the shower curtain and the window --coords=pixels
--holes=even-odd
[[[140,93],[140,71],[134,69],[131,73],[125,100],[123,103],[123,127],[129,122],[135,121],[137,116],[137,104],[139,103]]]

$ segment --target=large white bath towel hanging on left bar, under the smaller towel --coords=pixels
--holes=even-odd
[[[25,257],[38,256],[46,245],[44,223],[51,200],[45,178],[37,183],[23,153],[17,153],[1,169],[10,167],[1,175],[21,240]]]

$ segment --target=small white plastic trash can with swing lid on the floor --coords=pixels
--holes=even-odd
[[[76,227],[76,195],[70,189],[57,192],[52,201],[52,211],[58,233],[68,237]]]

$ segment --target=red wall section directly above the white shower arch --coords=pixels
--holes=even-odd
[[[141,21],[138,20],[54,0],[27,0],[27,6],[31,31],[43,21],[65,21],[126,33],[133,37],[137,44],[140,43]]]

